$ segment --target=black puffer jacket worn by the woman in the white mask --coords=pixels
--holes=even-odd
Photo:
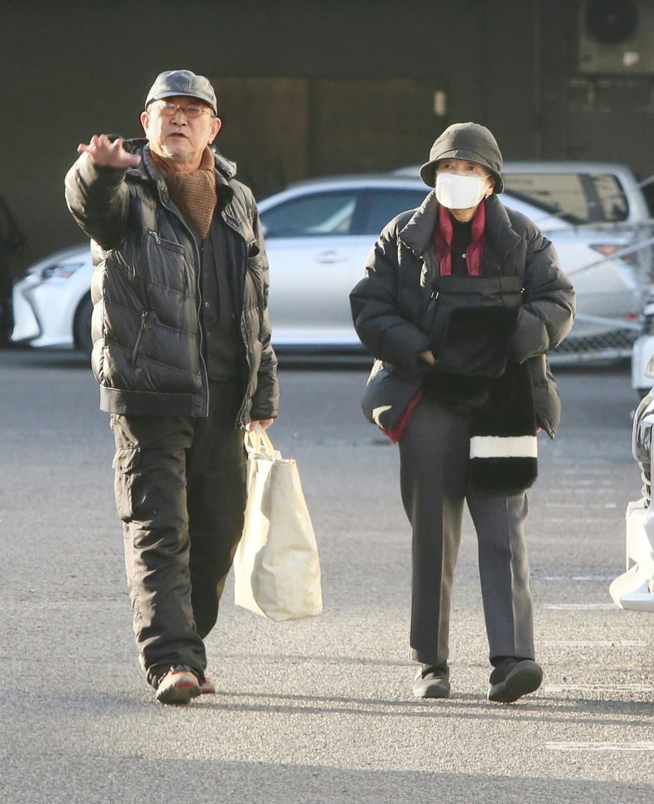
[[[463,351],[452,355],[452,343],[446,344],[445,336],[460,329],[452,311],[474,305],[476,310],[517,308],[509,359],[527,361],[538,424],[550,437],[556,433],[561,404],[545,355],[570,331],[574,290],[558,265],[554,246],[529,218],[505,207],[496,195],[484,203],[480,277],[439,277],[434,246],[439,204],[431,192],[421,207],[386,225],[366,261],[366,276],[350,293],[358,336],[380,362],[371,375],[364,409],[384,429],[394,426],[432,371],[420,352],[432,350],[438,367],[439,349],[445,359],[447,347],[448,371],[456,371],[458,361],[461,375],[472,373]]]

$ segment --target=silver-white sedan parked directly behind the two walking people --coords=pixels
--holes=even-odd
[[[349,291],[383,226],[426,195],[413,177],[371,174],[296,183],[259,204],[270,262],[270,314],[278,351],[359,351]],[[566,352],[602,356],[607,336],[622,337],[641,309],[636,272],[611,254],[621,236],[575,228],[509,193],[501,200],[548,232],[578,294]],[[551,231],[549,231],[551,230]],[[589,265],[593,265],[591,269]],[[14,285],[13,340],[90,351],[92,264],[88,246],[56,252]],[[633,338],[632,338],[633,340]],[[631,353],[632,340],[622,351]]]

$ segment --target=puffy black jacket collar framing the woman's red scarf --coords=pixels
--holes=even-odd
[[[493,193],[485,200],[486,242],[502,259],[505,258],[521,240],[513,229],[505,206]],[[425,252],[434,250],[434,230],[439,219],[439,203],[436,191],[432,190],[416,209],[406,226],[399,232],[399,238],[415,256],[422,257]]]

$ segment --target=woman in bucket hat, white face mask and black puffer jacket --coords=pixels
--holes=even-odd
[[[560,403],[546,361],[570,331],[574,291],[554,247],[503,206],[502,156],[476,123],[451,125],[420,170],[434,187],[379,236],[350,295],[376,358],[363,408],[399,443],[413,528],[414,695],[447,698],[449,612],[464,501],[479,544],[490,646],[488,699],[538,689],[525,548],[525,489],[538,430]]]

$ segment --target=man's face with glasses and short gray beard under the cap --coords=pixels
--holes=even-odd
[[[179,108],[166,114],[170,105]],[[189,117],[185,109],[202,109],[198,117]],[[141,125],[148,137],[150,149],[171,162],[195,162],[202,151],[213,142],[220,129],[219,117],[202,100],[174,96],[153,100],[141,114]]]

